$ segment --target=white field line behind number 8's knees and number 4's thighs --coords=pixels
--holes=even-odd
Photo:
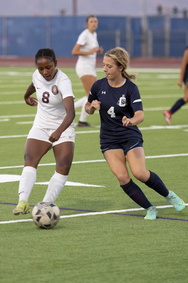
[[[166,154],[166,155],[151,155],[146,156],[146,159],[150,158],[168,158],[168,157],[178,157],[178,156],[188,156],[188,153],[179,153],[179,154]],[[80,164],[80,163],[91,163],[91,162],[103,162],[106,161],[105,159],[97,159],[97,160],[84,160],[84,161],[73,161],[72,164]],[[56,165],[55,163],[44,163],[39,164],[38,166],[52,166]],[[17,166],[5,166],[0,167],[0,169],[9,169],[9,168],[21,168],[24,167],[24,165],[17,165]]]

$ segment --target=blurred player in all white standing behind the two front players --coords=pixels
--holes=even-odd
[[[98,27],[98,20],[95,15],[89,15],[86,18],[87,29],[82,31],[78,40],[72,50],[72,55],[78,56],[76,63],[76,74],[82,80],[86,96],[80,98],[75,102],[75,109],[82,107],[79,117],[79,127],[89,127],[86,122],[88,114],[85,112],[85,104],[88,100],[89,91],[93,83],[97,80],[96,56],[103,53],[102,46],[99,47],[97,41],[97,33],[95,32]]]

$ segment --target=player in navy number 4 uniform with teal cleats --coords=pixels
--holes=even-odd
[[[152,188],[182,211],[185,203],[169,191],[154,172],[146,170],[142,133],[136,125],[144,121],[142,100],[138,87],[131,82],[136,74],[128,74],[129,54],[117,47],[104,54],[105,77],[95,82],[90,90],[86,112],[100,113],[100,148],[120,187],[135,203],[146,209],[144,219],[154,220],[157,209],[146,198],[129,176],[126,160],[133,176]]]

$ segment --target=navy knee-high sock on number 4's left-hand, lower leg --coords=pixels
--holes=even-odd
[[[146,198],[142,190],[139,188],[139,186],[137,186],[132,179],[131,181],[129,181],[129,183],[120,185],[120,187],[133,201],[135,201],[141,207],[147,209],[148,207],[153,206]]]

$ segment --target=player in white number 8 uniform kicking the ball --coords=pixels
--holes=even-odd
[[[42,156],[53,148],[56,170],[43,201],[54,202],[67,181],[74,153],[75,110],[71,82],[66,74],[56,69],[57,60],[52,49],[40,49],[35,55],[35,63],[38,69],[33,73],[24,99],[26,104],[38,107],[25,144],[19,203],[12,211],[14,215],[30,212],[27,201]],[[35,92],[37,98],[32,96]]]

